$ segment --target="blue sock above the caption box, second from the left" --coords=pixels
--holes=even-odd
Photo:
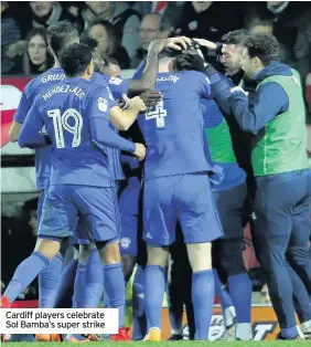
[[[53,308],[60,286],[63,266],[63,256],[57,253],[50,265],[39,274],[39,306]]]

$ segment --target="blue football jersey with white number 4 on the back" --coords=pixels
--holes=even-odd
[[[195,71],[160,73],[163,99],[138,117],[147,146],[144,178],[208,171],[201,101],[211,98],[208,78]]]

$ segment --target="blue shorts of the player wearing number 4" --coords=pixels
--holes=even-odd
[[[211,242],[223,235],[206,174],[147,180],[143,190],[143,240],[152,246],[175,241],[180,222],[185,243]]]

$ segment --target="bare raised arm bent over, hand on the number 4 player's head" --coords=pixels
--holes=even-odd
[[[135,96],[153,88],[158,75],[159,54],[164,48],[181,51],[182,49],[186,49],[187,44],[191,44],[191,40],[185,36],[152,41],[148,50],[146,67],[141,77],[139,80],[130,80],[128,95]]]

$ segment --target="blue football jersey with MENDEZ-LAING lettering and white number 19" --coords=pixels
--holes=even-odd
[[[35,98],[25,123],[45,126],[52,141],[50,185],[112,186],[105,147],[94,143],[89,120],[108,123],[114,105],[106,87],[81,77],[57,83]]]

